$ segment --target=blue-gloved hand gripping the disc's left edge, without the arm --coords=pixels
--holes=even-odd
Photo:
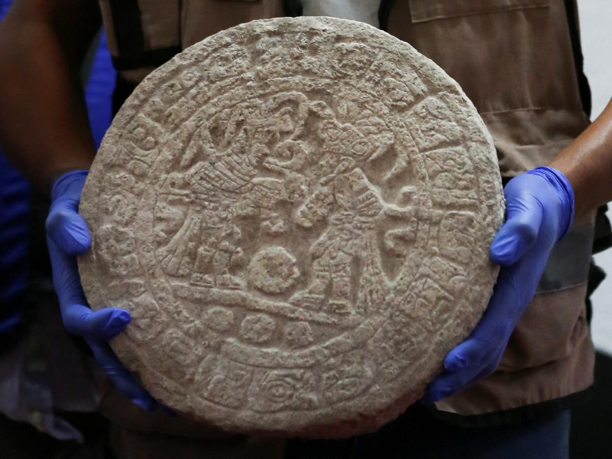
[[[53,268],[53,286],[58,294],[65,329],[85,338],[98,364],[122,394],[136,405],[152,409],[155,401],[140,386],[108,345],[130,323],[129,312],[120,308],[92,311],[83,294],[76,256],[91,245],[89,230],[77,213],[88,171],[63,174],[53,185],[47,217],[47,245]]]

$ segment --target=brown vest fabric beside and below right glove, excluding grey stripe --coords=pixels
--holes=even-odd
[[[570,231],[594,230],[594,220],[594,213],[586,215]],[[586,288],[583,283],[535,296],[518,321],[498,370],[468,390],[439,401],[436,408],[469,416],[588,389],[593,383],[595,353],[586,321]]]

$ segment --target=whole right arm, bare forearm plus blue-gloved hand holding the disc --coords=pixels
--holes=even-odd
[[[574,215],[612,200],[612,102],[550,165],[514,177],[504,195],[506,222],[490,250],[501,266],[493,297],[476,329],[444,359],[444,371],[428,387],[430,401],[496,370],[554,244]]]

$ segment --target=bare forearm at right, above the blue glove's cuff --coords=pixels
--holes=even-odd
[[[577,216],[612,201],[612,101],[550,166],[572,184]]]

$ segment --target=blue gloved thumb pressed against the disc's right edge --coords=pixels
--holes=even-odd
[[[542,205],[530,196],[508,204],[507,220],[491,244],[494,263],[509,266],[529,250],[540,231],[542,212]]]

